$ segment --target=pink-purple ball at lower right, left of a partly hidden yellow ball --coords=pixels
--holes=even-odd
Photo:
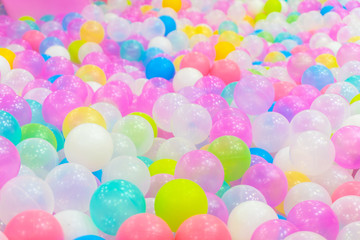
[[[270,163],[259,163],[250,167],[242,177],[241,184],[258,189],[271,207],[279,205],[288,190],[285,174]]]

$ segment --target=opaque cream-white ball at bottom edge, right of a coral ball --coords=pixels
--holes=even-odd
[[[230,213],[228,229],[233,240],[251,239],[261,224],[273,219],[277,219],[277,214],[266,203],[247,201],[238,205]]]

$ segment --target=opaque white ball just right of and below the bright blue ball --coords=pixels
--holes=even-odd
[[[195,83],[202,78],[201,72],[195,68],[180,69],[174,76],[173,87],[175,92],[180,91],[184,87],[194,86]]]

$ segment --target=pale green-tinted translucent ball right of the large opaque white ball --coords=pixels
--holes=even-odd
[[[137,154],[140,156],[151,148],[154,141],[154,131],[150,123],[136,115],[123,117],[114,125],[112,131],[128,136],[135,144]]]

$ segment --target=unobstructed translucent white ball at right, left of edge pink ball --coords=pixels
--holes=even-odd
[[[302,132],[290,144],[290,160],[297,171],[310,176],[320,175],[333,164],[335,147],[321,132]]]

